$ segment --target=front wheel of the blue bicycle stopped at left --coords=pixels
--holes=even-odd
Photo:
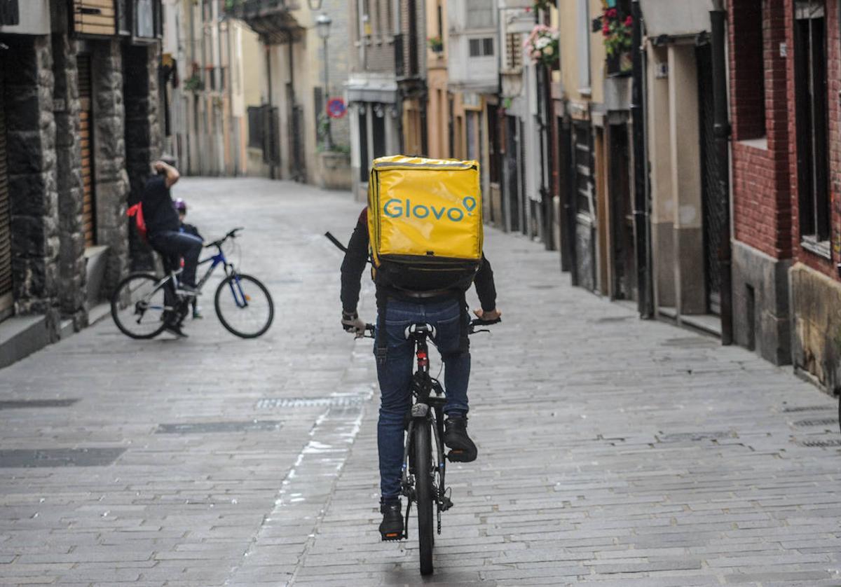
[[[234,273],[216,288],[214,307],[225,329],[242,338],[257,338],[274,319],[274,303],[257,278]]]

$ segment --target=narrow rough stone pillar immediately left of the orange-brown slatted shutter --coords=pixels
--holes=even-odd
[[[56,118],[56,188],[58,190],[61,314],[75,328],[87,325],[87,272],[82,223],[82,141],[79,138],[78,44],[53,34],[52,54]]]

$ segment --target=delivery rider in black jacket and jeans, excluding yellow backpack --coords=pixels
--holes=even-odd
[[[344,261],[341,263],[341,325],[345,331],[357,335],[365,331],[365,322],[357,315],[362,272],[368,261],[368,209],[359,215],[353,230]],[[494,272],[487,259],[482,257],[479,272],[474,279],[481,309],[474,314],[484,320],[496,320]],[[377,361],[377,378],[380,387],[380,408],[377,425],[377,444],[380,473],[380,512],[383,521],[380,534],[402,535],[403,516],[400,506],[400,471],[403,463],[405,416],[411,404],[410,380],[414,348],[405,338],[405,328],[415,322],[424,322],[436,329],[432,338],[441,352],[445,366],[444,383],[447,405],[444,413],[444,444],[451,449],[451,461],[469,463],[476,459],[476,445],[468,436],[468,379],[470,377],[470,352],[468,350],[467,323],[469,315],[461,291],[444,292],[433,297],[415,297],[411,293],[386,291],[377,287],[377,297],[388,297],[385,316],[378,324],[385,325],[385,332],[378,332],[386,344],[385,357]],[[378,304],[381,307],[381,304]],[[380,320],[383,319],[384,320]]]

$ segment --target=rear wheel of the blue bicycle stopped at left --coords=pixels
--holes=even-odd
[[[114,324],[132,338],[152,338],[161,334],[164,323],[164,288],[156,287],[151,273],[132,273],[117,285],[111,296]]]

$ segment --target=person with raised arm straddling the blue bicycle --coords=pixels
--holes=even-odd
[[[146,224],[146,234],[153,249],[167,256],[167,262],[177,267],[179,259],[183,258],[184,268],[181,273],[179,290],[184,294],[197,295],[196,267],[198,256],[201,254],[203,242],[197,236],[181,231],[181,221],[175,204],[172,202],[170,188],[181,175],[172,166],[174,161],[155,161],[152,164],[153,175],[146,181],[143,188],[143,216]],[[167,289],[167,305],[174,304],[174,292]],[[177,336],[186,336],[177,324],[172,314],[165,316],[167,331]]]

